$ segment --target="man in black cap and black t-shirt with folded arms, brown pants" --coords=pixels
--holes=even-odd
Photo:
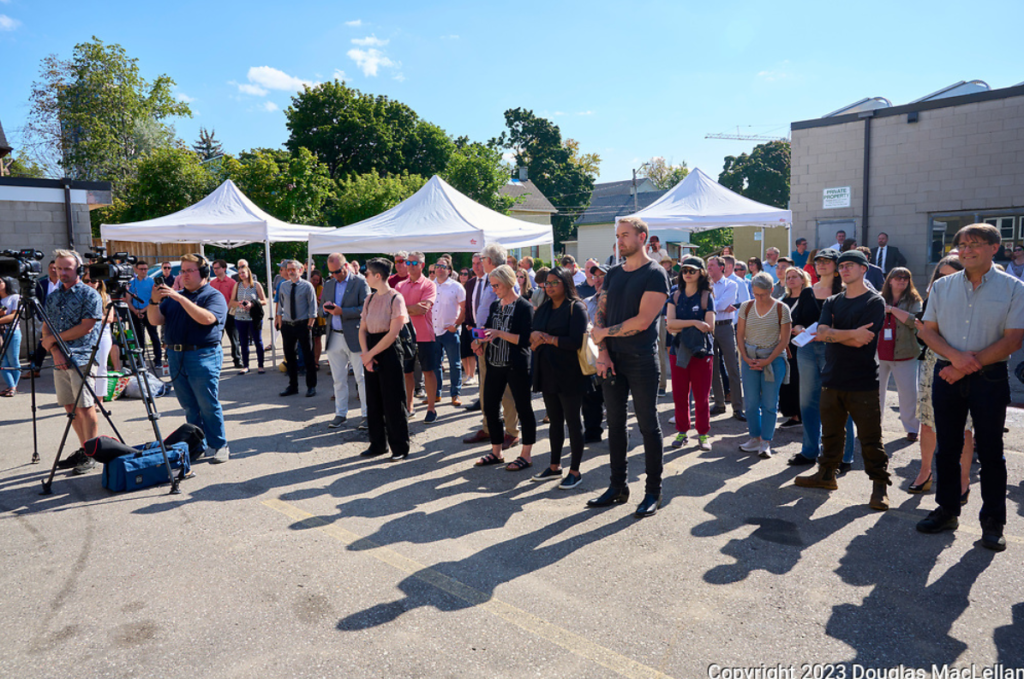
[[[818,470],[798,476],[796,484],[835,491],[836,472],[843,461],[846,420],[853,418],[864,456],[864,470],[872,481],[871,509],[889,509],[889,458],[882,445],[879,367],[874,350],[886,317],[882,296],[864,285],[867,257],[857,250],[840,255],[839,274],[846,290],[821,307],[817,342],[825,345],[821,373],[821,457]]]

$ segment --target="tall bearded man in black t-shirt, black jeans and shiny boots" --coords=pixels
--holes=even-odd
[[[608,418],[608,452],[611,485],[587,503],[607,507],[626,502],[626,407],[630,393],[637,424],[643,435],[647,467],[646,493],[636,516],[652,516],[662,506],[662,456],[664,441],[657,421],[657,316],[669,298],[669,277],[647,256],[647,224],[627,217],[615,225],[618,251],[625,261],[604,277],[591,337],[600,347],[597,374],[604,378],[604,406]]]

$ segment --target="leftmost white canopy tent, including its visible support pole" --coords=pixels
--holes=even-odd
[[[249,243],[263,243],[266,254],[267,292],[273,275],[270,268],[270,244],[307,241],[309,232],[322,226],[289,224],[271,217],[243,194],[230,179],[209,196],[183,210],[144,221],[125,224],[101,224],[104,241],[132,243],[199,243],[237,248]],[[270,335],[276,362],[273,304],[269,304]]]

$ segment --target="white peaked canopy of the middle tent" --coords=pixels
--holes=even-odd
[[[386,212],[342,228],[310,234],[309,252],[475,252],[492,243],[526,248],[553,242],[550,224],[495,212],[435,175]]]

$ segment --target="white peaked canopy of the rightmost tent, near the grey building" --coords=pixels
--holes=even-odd
[[[793,212],[764,205],[736,194],[699,168],[665,196],[632,215],[651,230],[702,231],[723,226],[779,226],[793,221]]]

